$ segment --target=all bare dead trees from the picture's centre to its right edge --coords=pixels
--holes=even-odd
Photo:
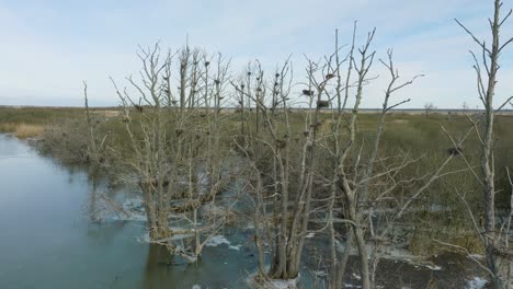
[[[320,61],[307,59],[307,81],[303,82],[306,88],[301,91],[301,97],[306,97],[309,109],[304,115],[303,131],[290,127],[292,67],[288,61],[271,74],[267,82],[263,81],[261,67],[255,66],[247,72],[247,78],[232,83],[240,97],[239,103],[254,103],[258,107],[256,114],[260,115],[251,120],[256,122],[254,127],[263,127],[261,130],[241,129],[243,137],[237,138],[237,146],[248,160],[246,188],[253,196],[255,209],[260,280],[297,278],[306,236],[315,232],[328,232],[331,252],[328,256],[329,287],[342,288],[349,254],[355,251],[361,266],[362,287],[375,288],[379,258],[398,242],[395,228],[404,217],[412,218],[412,207],[434,183],[443,182],[447,175],[470,172],[482,185],[483,201],[479,206],[480,210],[472,211],[456,187],[453,194],[457,194],[467,207],[468,223],[475,227],[475,233],[485,247],[486,262],[475,261],[489,274],[494,288],[510,286],[512,251],[509,241],[513,206],[505,221],[498,224],[494,205],[493,114],[498,109],[493,108],[492,99],[498,58],[511,43],[511,39],[499,43],[499,30],[511,15],[510,12],[501,19],[501,5],[500,1],[494,1],[494,19],[490,21],[492,47],[488,48],[483,42],[475,38],[482,48],[482,66],[487,73],[482,74],[476,60],[486,118],[478,123],[468,116],[468,128],[458,132],[463,136],[458,141],[442,126],[441,130],[455,149],[448,151],[436,169],[422,175],[406,178],[403,174],[412,167],[414,170],[422,162],[422,155],[413,158],[408,153],[380,153],[387,114],[410,101],[394,102],[394,94],[422,77],[400,81],[399,71],[394,66],[392,50],[387,53],[386,59],[379,59],[389,72],[389,83],[385,88],[373,141],[365,143],[357,138],[360,105],[365,97],[366,84],[373,80],[368,72],[376,55],[371,48],[375,31],[368,33],[362,46],[357,46],[355,26],[353,41],[345,55],[341,56],[337,35],[332,55]],[[499,109],[511,100],[508,99]],[[328,119],[319,114],[326,107],[331,108]],[[251,127],[249,119],[242,117],[241,127]],[[461,149],[471,134],[477,134],[481,142],[481,173],[475,171],[476,166],[468,162]],[[448,170],[455,157],[461,157],[467,165]],[[481,224],[475,220],[479,215],[485,216]],[[322,223],[319,219],[324,221],[324,226],[312,226],[314,221]],[[344,226],[335,227],[335,222]],[[440,240],[431,241],[461,250],[460,246]],[[342,251],[338,244],[343,244]],[[270,252],[270,255],[265,252]],[[468,251],[464,252],[471,255]],[[269,269],[265,268],[266,264],[270,264]]]

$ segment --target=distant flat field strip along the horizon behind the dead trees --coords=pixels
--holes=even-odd
[[[147,108],[150,111],[149,108]],[[202,108],[196,108],[202,111]],[[254,112],[254,109],[251,109]],[[105,119],[115,119],[119,116],[118,107],[93,107],[91,108],[93,115],[100,116]],[[223,112],[227,114],[233,114],[233,117],[228,118],[228,123],[236,124],[239,118],[236,115],[238,112],[232,107],[225,107]],[[290,122],[293,127],[298,129],[301,127],[303,116],[308,112],[306,108],[292,108]],[[331,109],[323,109],[326,114],[322,117],[324,120],[324,129],[329,126],[327,123],[331,122],[330,114]],[[346,111],[350,113],[351,111]],[[360,117],[360,129],[361,132],[373,130],[377,124],[378,108],[363,108],[361,109],[362,116]],[[134,112],[135,113],[135,112]],[[440,125],[453,129],[463,129],[468,126],[468,119],[465,114],[481,114],[482,111],[477,109],[436,109],[431,111],[430,115],[426,115],[425,109],[394,109],[388,116],[387,128],[394,132],[391,135],[400,135],[403,138],[413,137],[413,135],[443,137]],[[250,113],[251,114],[251,113]],[[498,134],[500,135],[503,128],[511,127],[513,125],[512,109],[504,109],[498,115]],[[55,107],[55,106],[0,106],[0,131],[12,132],[20,138],[34,137],[39,135],[45,127],[52,126],[58,123],[62,123],[66,119],[84,119],[86,111],[83,107]],[[231,119],[231,120],[230,120]],[[395,128],[395,129],[394,129]],[[390,134],[390,132],[389,132]],[[510,135],[510,134],[508,134]],[[508,136],[503,136],[508,139]],[[421,137],[420,139],[423,139]],[[429,140],[429,139],[426,139]],[[433,140],[433,139],[431,139]],[[444,141],[445,142],[445,141]]]

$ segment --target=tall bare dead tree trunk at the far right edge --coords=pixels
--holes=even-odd
[[[501,232],[498,230],[497,212],[495,212],[495,195],[498,189],[495,188],[495,166],[494,166],[494,147],[495,137],[493,132],[494,116],[497,111],[501,109],[506,105],[512,97],[508,99],[504,104],[499,108],[493,107],[493,101],[495,96],[497,76],[499,71],[499,60],[501,53],[504,51],[512,42],[513,38],[509,38],[505,42],[501,42],[500,32],[504,22],[511,16],[512,10],[510,10],[505,16],[501,18],[500,12],[503,5],[502,1],[494,0],[494,12],[493,18],[489,19],[490,31],[491,31],[491,46],[485,41],[480,41],[470,30],[464,24],[456,20],[458,25],[472,38],[472,41],[479,46],[480,51],[478,54],[471,53],[475,60],[474,69],[477,74],[477,86],[479,93],[479,100],[485,106],[485,119],[480,124],[471,122],[476,126],[476,132],[479,136],[481,146],[481,160],[480,169],[481,175],[475,174],[482,185],[482,211],[485,213],[483,230],[479,230],[481,241],[485,246],[487,255],[488,273],[492,281],[493,288],[508,288],[506,279],[501,264],[504,265],[511,261],[501,257],[498,252],[500,250],[501,240],[509,238],[509,232]],[[503,227],[501,227],[503,228]],[[501,262],[502,259],[502,262]]]

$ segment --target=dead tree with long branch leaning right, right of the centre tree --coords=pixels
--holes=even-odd
[[[354,47],[354,38],[353,36],[352,47]],[[379,259],[378,251],[380,243],[388,242],[388,239],[394,239],[390,228],[402,218],[404,211],[412,206],[413,201],[417,200],[433,182],[442,177],[443,170],[453,158],[449,155],[437,170],[419,177],[419,188],[412,192],[406,201],[396,201],[397,206],[394,207],[389,216],[386,217],[387,223],[385,226],[374,228],[374,222],[376,220],[373,219],[373,211],[384,199],[392,198],[392,192],[401,183],[406,182],[400,180],[399,172],[420,160],[420,158],[412,159],[403,155],[380,157],[378,154],[388,113],[392,108],[410,101],[404,100],[390,104],[390,97],[395,92],[412,84],[418,77],[422,76],[415,76],[411,80],[399,83],[399,72],[394,67],[392,50],[388,51],[387,60],[381,60],[381,63],[389,71],[390,82],[385,91],[383,108],[374,135],[374,141],[371,144],[367,159],[364,159],[366,155],[363,153],[364,143],[357,140],[356,132],[360,104],[364,97],[364,86],[372,80],[367,74],[373,65],[375,55],[375,53],[369,50],[373,38],[374,31],[368,34],[364,46],[357,50],[360,54],[360,62],[356,61],[356,57],[354,56],[354,48],[351,48],[347,57],[343,59],[349,61],[347,74],[351,74],[353,70],[356,73],[356,81],[354,84],[350,83],[351,78],[345,78],[344,81],[341,73],[328,73],[329,76],[337,74],[337,80],[333,80],[333,82],[337,83],[334,90],[327,90],[326,86],[319,84],[322,82],[314,81],[315,88],[318,91],[317,93],[327,95],[326,97],[329,100],[337,100],[337,104],[340,103],[340,105],[342,105],[342,107],[333,109],[330,135],[322,137],[322,139],[327,140],[322,142],[322,147],[333,159],[333,173],[331,182],[329,183],[330,200],[328,204],[327,223],[331,254],[330,288],[342,287],[343,275],[353,242],[358,252],[362,287],[374,288],[376,286],[375,274]],[[328,70],[327,72],[330,72],[330,70],[341,71],[343,61],[339,61],[340,58],[337,57],[338,53],[339,50],[335,49],[332,56],[326,58],[327,63],[323,65],[323,67]],[[309,76],[315,79],[314,73],[310,72]],[[321,78],[319,77],[319,79]],[[331,78],[324,77],[323,79]],[[354,105],[352,111],[346,113],[345,105],[349,102],[350,89],[352,86],[355,88]],[[339,256],[335,245],[337,242],[342,242],[342,240],[338,238],[338,235],[342,233],[335,232],[333,226],[335,219],[335,213],[333,211],[335,208],[341,210],[344,216],[338,221],[347,224],[344,252],[341,256]]]

